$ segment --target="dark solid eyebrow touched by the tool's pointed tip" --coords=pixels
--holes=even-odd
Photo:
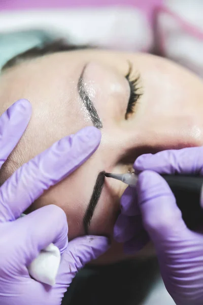
[[[104,187],[104,182],[105,182],[105,171],[102,171],[98,174],[98,176],[96,178],[93,193],[92,193],[91,199],[89,201],[88,207],[86,209],[85,216],[83,218],[83,227],[84,227],[84,231],[85,231],[86,235],[88,235],[88,228],[89,228],[92,216],[94,214],[95,207],[100,198],[101,191]]]

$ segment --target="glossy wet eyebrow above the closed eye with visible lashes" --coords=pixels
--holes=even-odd
[[[101,120],[98,116],[98,113],[97,113],[97,111],[94,107],[93,102],[88,97],[88,94],[85,92],[85,88],[84,88],[83,75],[84,75],[86,66],[87,65],[85,65],[85,67],[83,68],[82,73],[81,73],[81,75],[79,77],[79,80],[78,80],[78,94],[79,94],[85,108],[87,109],[87,111],[90,115],[93,126],[98,128],[98,129],[101,129],[101,128],[103,128],[103,124],[101,123]]]

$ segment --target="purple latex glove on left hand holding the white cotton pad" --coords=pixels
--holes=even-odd
[[[20,100],[0,118],[1,165],[23,134],[30,115],[29,102]],[[61,139],[19,168],[0,188],[1,305],[59,305],[76,272],[108,249],[108,240],[103,236],[84,236],[68,242],[65,213],[55,205],[19,218],[45,190],[94,153],[100,136],[96,128],[86,127]],[[52,287],[31,279],[26,267],[51,242],[63,252]]]

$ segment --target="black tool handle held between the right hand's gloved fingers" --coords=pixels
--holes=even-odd
[[[162,175],[162,177],[174,193],[188,228],[195,230],[199,225],[203,225],[203,208],[201,208],[203,177],[189,175]]]

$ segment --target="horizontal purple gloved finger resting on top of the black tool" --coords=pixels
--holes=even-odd
[[[134,162],[134,170],[153,170],[160,174],[203,174],[203,147],[189,147],[145,154]]]

